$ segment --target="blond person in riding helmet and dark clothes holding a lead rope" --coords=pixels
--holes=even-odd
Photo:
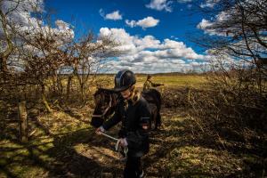
[[[142,156],[150,150],[150,109],[148,102],[135,89],[136,79],[130,70],[121,70],[115,77],[115,92],[119,92],[121,100],[117,104],[115,114],[99,128],[96,134],[109,130],[122,122],[118,132],[122,147],[127,147],[127,160],[124,177],[143,177]]]

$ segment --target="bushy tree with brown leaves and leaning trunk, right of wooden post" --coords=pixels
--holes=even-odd
[[[58,70],[67,61],[69,42],[73,34],[69,28],[60,30],[53,28],[50,23],[44,26],[43,20],[50,21],[50,14],[42,15],[38,14],[39,20],[28,24],[28,28],[19,33],[22,45],[18,49],[23,64],[20,73],[25,80],[41,87],[44,106],[52,111],[45,97],[45,85],[51,78],[57,80]]]

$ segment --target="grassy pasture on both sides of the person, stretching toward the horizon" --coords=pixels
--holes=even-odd
[[[146,76],[137,76],[137,87],[142,89]],[[163,97],[161,112],[163,127],[150,134],[150,153],[144,158],[147,177],[243,177],[258,175],[249,165],[258,164],[253,153],[228,150],[239,142],[223,142],[217,147],[194,133],[198,123],[190,117],[189,107],[166,104],[185,100],[185,88],[204,88],[206,77],[198,75],[158,75],[152,78]],[[106,82],[103,82],[106,81]],[[111,81],[111,82],[110,82]],[[100,76],[96,83],[111,87],[113,76]],[[124,162],[114,151],[114,142],[94,134],[90,126],[93,112],[93,91],[81,105],[72,103],[58,106],[53,112],[28,106],[29,141],[18,142],[16,108],[0,102],[0,177],[121,177]],[[176,91],[176,93],[175,93]],[[185,91],[185,94],[182,92]],[[91,97],[90,97],[91,96]],[[180,97],[180,98],[179,98]],[[182,98],[183,97],[183,98]],[[118,126],[108,133],[117,136]],[[249,149],[249,148],[248,148]]]

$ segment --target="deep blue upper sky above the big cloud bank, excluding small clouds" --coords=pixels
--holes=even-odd
[[[99,33],[100,28],[104,27],[125,28],[125,31],[132,36],[152,35],[159,40],[173,38],[193,45],[186,39],[186,34],[194,31],[196,25],[202,19],[198,14],[191,15],[190,3],[172,1],[172,4],[169,4],[169,8],[164,8],[162,10],[149,8],[149,4],[150,0],[45,1],[46,9],[53,8],[56,12],[56,16],[61,20],[69,23],[76,21],[75,23],[78,29],[85,26],[86,28],[93,29],[95,33]],[[105,17],[112,12],[117,12],[120,18],[116,19],[116,15],[113,16],[113,19],[112,16],[108,16],[109,18]],[[150,28],[142,28],[140,26],[132,28],[125,23],[125,20],[138,21],[147,17],[159,20],[158,24]]]

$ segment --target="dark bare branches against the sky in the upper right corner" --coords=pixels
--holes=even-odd
[[[253,62],[262,69],[257,61],[267,60],[266,9],[264,0],[223,0],[212,9],[201,9],[213,20],[198,24],[208,34],[198,44],[213,49],[213,53],[229,53],[235,59]]]

